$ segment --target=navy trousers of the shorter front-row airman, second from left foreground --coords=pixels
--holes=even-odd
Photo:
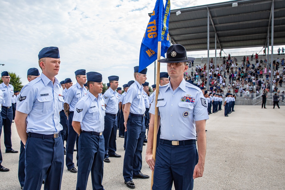
[[[104,189],[102,185],[105,152],[104,136],[81,132],[78,148],[80,156],[76,189],[86,189],[90,171],[93,189]]]

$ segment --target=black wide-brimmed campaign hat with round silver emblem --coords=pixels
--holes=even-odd
[[[186,49],[180,44],[174,44],[170,46],[166,52],[166,58],[158,60],[160,63],[176,63],[193,61],[196,58],[188,58],[186,55]]]

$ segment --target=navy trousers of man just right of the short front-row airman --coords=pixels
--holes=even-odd
[[[117,116],[105,115],[105,125],[103,132],[105,140],[105,156],[116,154],[116,136],[117,136]]]

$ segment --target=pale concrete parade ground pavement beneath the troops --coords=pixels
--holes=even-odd
[[[261,106],[235,106],[229,117],[223,111],[211,114],[207,120],[207,154],[203,177],[194,180],[194,189],[285,189],[285,119],[284,106],[280,109],[261,109]],[[20,189],[18,180],[19,153],[5,153],[1,135],[2,165],[10,169],[0,172],[0,190]],[[20,138],[12,123],[12,143],[20,150]],[[104,163],[105,189],[129,189],[123,179],[124,139],[117,137],[117,154]],[[144,174],[151,175],[144,160]],[[76,163],[76,152],[74,162]],[[77,167],[76,167],[77,168]],[[64,166],[62,189],[76,188],[77,174]],[[137,190],[150,189],[150,179],[134,179]],[[43,189],[43,186],[42,186]],[[89,176],[87,189],[92,189]],[[174,187],[172,188],[174,189]]]

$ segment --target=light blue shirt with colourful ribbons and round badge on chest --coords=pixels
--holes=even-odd
[[[160,87],[157,100],[161,139],[196,139],[195,121],[209,119],[201,89],[185,80],[174,91],[171,81]],[[155,114],[155,95],[149,113]]]

